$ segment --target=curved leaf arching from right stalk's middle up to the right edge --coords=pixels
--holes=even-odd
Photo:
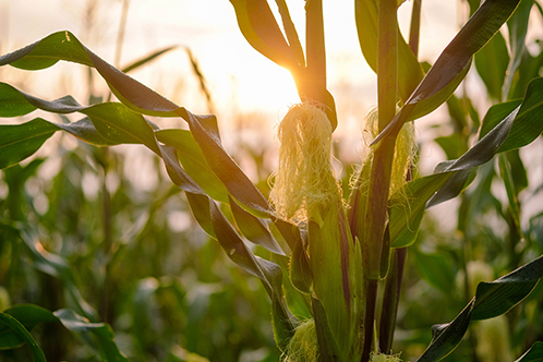
[[[434,174],[410,181],[391,195],[389,222],[393,248],[414,242],[422,210],[456,197],[466,186],[471,169],[487,162],[497,153],[522,147],[541,134],[542,95],[543,79],[536,79],[528,86],[522,101],[493,106],[481,126],[481,138],[472,148],[457,160],[439,164]]]

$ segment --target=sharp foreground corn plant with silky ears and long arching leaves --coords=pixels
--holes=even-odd
[[[496,104],[484,117],[476,142],[463,154],[438,164],[432,174],[419,176],[413,122],[447,99],[450,105],[474,55],[483,47],[488,51],[485,45],[494,45],[506,22],[510,29],[526,29],[534,1],[470,1],[470,19],[430,68],[417,56],[421,1],[413,1],[409,43],[399,32],[398,1],[354,1],[360,47],[377,74],[378,102],[365,120],[367,148],[350,188],[341,188],[330,164],[331,136],[341,120],[327,89],[322,0],[305,2],[305,47],[286,1],[276,1],[282,31],[266,0],[230,2],[248,43],[290,71],[301,100],[278,128],[279,161],[269,200],[225,150],[215,116],[194,114],[168,100],[110,65],[68,31],[2,56],[0,65],[34,71],[62,60],[90,67],[118,101],[82,106],[71,96],[45,100],[1,83],[2,117],[40,109],[83,118],[70,123],[35,118],[0,125],[0,166],[14,167],[58,131],[98,147],[142,144],[164,161],[202,229],[233,263],[261,279],[272,302],[274,336],[285,361],[397,361],[394,352],[399,351],[391,349],[402,270],[425,209],[458,196],[478,168],[497,157],[518,221],[518,203],[508,182],[512,176],[504,155],[532,143],[543,131],[542,80],[519,70],[526,32],[510,32],[515,41],[510,41],[507,76],[502,82],[483,76],[487,84],[498,82],[488,86]],[[479,58],[479,68],[491,62]],[[161,129],[146,119],[149,116],[180,118],[189,130]],[[37,305],[15,305],[5,310],[0,314],[2,348],[26,342],[34,360],[45,361],[28,330],[39,323],[60,322],[84,338],[93,336],[102,360],[126,360],[110,326],[99,323],[104,315],[72,288],[70,269],[43,249],[29,222],[17,221],[3,222],[2,234],[22,241],[36,267],[59,276],[69,290],[71,309],[51,313]],[[448,355],[470,322],[508,312],[542,276],[540,256],[494,281],[480,282],[454,321],[434,326],[433,339],[418,361]],[[379,286],[383,298],[377,298]],[[542,359],[542,346],[534,343],[517,361]]]

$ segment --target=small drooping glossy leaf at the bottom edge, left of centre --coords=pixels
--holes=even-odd
[[[76,333],[92,333],[98,340],[100,357],[108,362],[129,362],[117,343],[113,330],[105,323],[90,323],[72,310],[59,310],[53,313],[68,329]]]

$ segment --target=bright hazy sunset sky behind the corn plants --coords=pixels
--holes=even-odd
[[[303,39],[304,2],[287,2]],[[122,5],[123,0],[0,0],[0,51],[12,51],[50,33],[69,29],[92,50],[113,62]],[[405,28],[411,5],[407,1],[400,8]],[[329,88],[336,96],[340,122],[345,120],[345,126],[338,131],[350,132],[358,126],[358,118],[376,104],[376,77],[360,51],[353,1],[325,1],[324,7]],[[422,14],[425,34],[421,39],[422,59],[435,60],[454,37],[458,8],[457,1],[426,1]],[[425,32],[430,28],[432,32]],[[219,118],[253,113],[270,118],[267,123],[273,124],[299,101],[288,71],[245,41],[228,0],[130,0],[121,64],[171,45],[180,49],[133,76],[196,113],[207,109],[201,95],[193,90],[197,84],[190,74],[182,47],[190,48],[200,62]],[[67,71],[61,72],[65,76]],[[81,70],[70,68],[70,72],[74,72],[75,79],[82,76]],[[39,84],[43,88],[43,83]],[[76,92],[69,87],[59,92],[62,90]]]

